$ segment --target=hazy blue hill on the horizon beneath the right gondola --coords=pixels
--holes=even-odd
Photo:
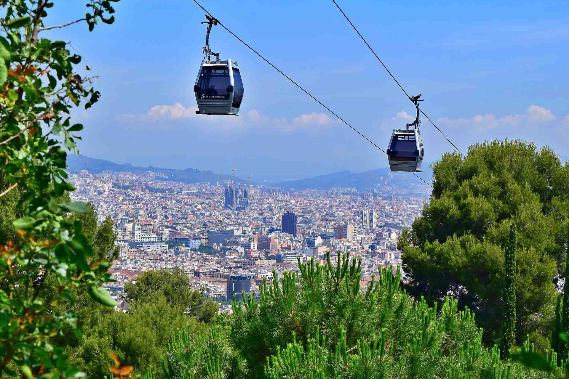
[[[423,163],[424,172],[417,173],[427,183],[431,182],[432,171],[430,164]],[[348,170],[339,171],[331,174],[320,175],[312,178],[290,180],[274,183],[273,186],[284,189],[294,188],[295,190],[303,189],[319,189],[326,190],[332,187],[355,187],[357,190],[369,190],[376,184],[389,180],[389,185],[394,187],[405,188],[407,186],[422,185],[426,186],[422,181],[411,173],[407,172],[390,172],[389,168],[380,168],[369,170],[361,173],[354,173]]]

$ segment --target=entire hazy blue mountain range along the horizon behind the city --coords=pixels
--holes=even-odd
[[[78,173],[80,170],[87,170],[92,174],[98,174],[104,171],[115,171],[115,172],[133,172],[133,173],[143,173],[147,171],[160,172],[166,174],[168,178],[164,180],[168,181],[179,181],[188,183],[197,182],[209,182],[216,183],[217,181],[225,180],[236,180],[238,182],[245,182],[239,177],[232,177],[230,175],[217,174],[211,171],[201,171],[193,168],[187,168],[184,170],[178,169],[168,169],[168,168],[158,168],[154,166],[148,167],[138,167],[133,166],[129,163],[118,164],[104,159],[94,159],[84,155],[72,155],[67,156],[67,165],[69,172]],[[422,177],[425,181],[431,182],[432,172],[428,168],[430,164],[423,163],[424,172],[418,175]],[[281,187],[284,189],[294,188],[297,190],[302,189],[329,189],[333,187],[354,187],[358,190],[368,190],[373,188],[374,185],[381,181],[389,179],[390,186],[407,186],[407,185],[419,185],[423,182],[419,181],[411,173],[390,173],[389,168],[380,168],[375,170],[369,170],[361,173],[353,173],[351,171],[340,171],[331,174],[320,175],[312,178],[304,178],[299,180],[288,180],[271,183],[271,186]],[[424,184],[423,184],[424,185]]]

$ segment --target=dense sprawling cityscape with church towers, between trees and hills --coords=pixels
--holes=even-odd
[[[74,199],[91,204],[98,221],[113,219],[120,257],[108,288],[147,271],[179,267],[207,298],[231,311],[233,294],[258,296],[259,284],[282,280],[301,263],[333,263],[337,252],[362,259],[362,286],[377,266],[401,265],[397,239],[419,215],[426,195],[402,197],[382,190],[282,190],[242,181],[212,184],[170,182],[162,174],[82,170],[71,174]],[[383,180],[384,178],[382,178]],[[127,308],[125,303],[121,304]]]

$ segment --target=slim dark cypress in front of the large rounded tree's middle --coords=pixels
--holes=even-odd
[[[510,226],[510,238],[504,249],[505,285],[504,285],[504,324],[502,326],[502,357],[509,354],[516,343],[516,223]],[[568,299],[569,300],[569,299]],[[569,305],[569,303],[568,303]],[[564,306],[564,303],[563,303]],[[569,310],[569,309],[568,309]]]

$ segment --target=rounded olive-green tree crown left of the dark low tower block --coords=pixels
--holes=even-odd
[[[191,280],[176,267],[174,270],[152,270],[137,277],[135,283],[125,285],[125,298],[129,305],[150,302],[162,295],[172,305],[180,306],[185,314],[197,315],[205,302],[200,290],[191,288]]]

